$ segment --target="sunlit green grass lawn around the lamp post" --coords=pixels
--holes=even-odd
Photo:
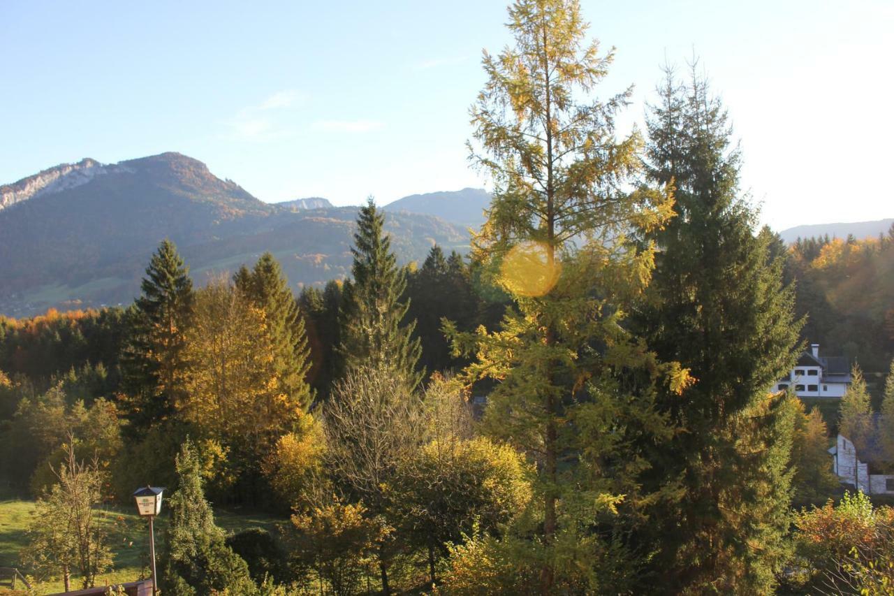
[[[161,547],[167,516],[156,519],[156,548]],[[132,582],[145,575],[148,567],[148,522],[141,519],[135,511],[136,507],[107,507],[103,512],[102,523],[109,529],[109,545],[114,555],[114,569],[101,575],[97,585],[105,583]],[[23,574],[30,574],[19,560],[19,551],[28,544],[25,530],[31,522],[34,501],[21,499],[0,500],[0,567],[18,567]],[[283,518],[266,514],[249,514],[241,511],[215,511],[215,521],[227,532],[239,532],[245,528],[261,527],[272,530],[275,524],[285,521]],[[159,572],[160,573],[160,572]],[[72,578],[72,588],[76,579]],[[53,578],[39,584],[38,593],[49,594],[62,592],[63,583]],[[0,588],[0,593],[4,592]]]

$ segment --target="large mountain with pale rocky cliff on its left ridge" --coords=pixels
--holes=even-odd
[[[165,237],[199,285],[264,251],[295,290],[346,277],[357,208],[294,203],[258,200],[179,153],[84,159],[0,186],[0,313],[130,303]],[[402,262],[425,259],[433,243],[468,247],[467,231],[430,215],[389,212],[385,230]]]

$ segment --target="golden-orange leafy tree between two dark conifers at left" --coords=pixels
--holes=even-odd
[[[184,346],[189,366],[177,410],[199,438],[227,452],[242,498],[260,498],[262,462],[301,428],[307,392],[289,394],[266,311],[224,280],[199,290]],[[291,371],[285,371],[291,374]]]

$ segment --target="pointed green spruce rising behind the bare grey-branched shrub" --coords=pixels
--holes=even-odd
[[[338,353],[345,372],[386,368],[416,387],[424,376],[417,370],[422,347],[413,339],[416,322],[401,325],[409,309],[401,302],[406,272],[397,266],[383,225],[384,216],[370,198],[360,209],[350,249],[353,280],[344,285]]]

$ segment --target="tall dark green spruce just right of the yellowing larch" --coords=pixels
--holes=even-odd
[[[789,397],[768,392],[795,362],[800,323],[772,234],[755,234],[740,196],[721,102],[695,66],[688,85],[667,69],[658,91],[648,171],[674,185],[676,217],[645,236],[659,252],[639,322],[659,358],[697,380],[659,399],[678,431],[655,450],[655,478],[684,490],[654,520],[653,569],[669,592],[766,592],[789,526],[794,422]]]

